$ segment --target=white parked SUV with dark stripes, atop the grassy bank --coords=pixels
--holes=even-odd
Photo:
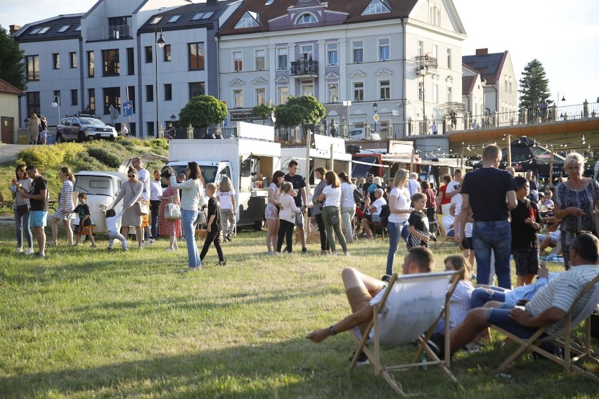
[[[82,143],[85,140],[94,140],[94,138],[96,140],[100,138],[116,140],[117,131],[100,119],[82,115],[65,117],[56,126],[56,143],[65,141]]]

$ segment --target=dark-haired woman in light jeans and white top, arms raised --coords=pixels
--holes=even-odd
[[[185,234],[187,244],[187,266],[186,270],[199,270],[202,267],[198,245],[195,244],[195,219],[198,218],[198,210],[204,207],[204,179],[200,171],[200,165],[196,162],[188,162],[185,169],[186,181],[177,183],[176,172],[169,166],[171,187],[181,190],[181,228]]]

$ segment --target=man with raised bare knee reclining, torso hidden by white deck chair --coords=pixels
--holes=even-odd
[[[434,268],[434,256],[428,248],[413,247],[408,250],[401,268],[404,275],[430,273]],[[387,283],[360,273],[354,268],[344,268],[341,277],[349,306],[352,307],[352,314],[337,324],[311,332],[306,336],[307,339],[319,343],[331,335],[349,331],[354,327],[360,327],[360,331],[363,333],[368,327],[368,322],[372,320],[373,306],[382,298]],[[362,355],[358,361],[367,362],[368,360],[366,355]]]

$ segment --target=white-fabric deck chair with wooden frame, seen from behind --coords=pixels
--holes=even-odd
[[[356,365],[362,351],[373,364],[375,374],[382,375],[399,395],[407,394],[389,372],[410,367],[437,365],[459,385],[458,380],[449,371],[449,299],[460,278],[458,277],[451,286],[449,283],[452,277],[456,275],[461,277],[463,273],[464,270],[459,270],[401,277],[394,273],[380,302],[373,306],[373,320],[366,327],[363,336],[357,328],[349,332],[358,344],[358,349],[349,364],[350,371]],[[440,360],[427,344],[437,322],[442,317],[445,317],[446,326],[446,360]],[[418,349],[411,362],[402,365],[382,364],[381,346],[393,348],[414,341],[418,343]],[[367,344],[373,344],[372,351],[366,346]],[[426,352],[429,361],[418,362],[420,353],[423,351]]]

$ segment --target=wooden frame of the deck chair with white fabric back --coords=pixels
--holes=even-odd
[[[352,358],[352,361],[349,363],[349,370],[351,371],[352,369],[354,369],[356,362],[358,360],[358,357],[360,355],[360,352],[363,352],[366,354],[366,356],[368,357],[368,360],[371,361],[371,363],[374,366],[374,372],[376,375],[381,375],[383,379],[385,379],[385,381],[387,381],[387,384],[389,384],[389,386],[391,386],[394,391],[396,391],[397,393],[399,393],[399,395],[403,395],[406,396],[408,395],[406,392],[404,392],[403,388],[401,388],[401,384],[399,384],[397,381],[395,381],[394,377],[392,374],[390,374],[389,372],[395,371],[395,370],[404,370],[404,369],[409,369],[411,367],[420,367],[420,366],[432,366],[432,365],[437,365],[439,366],[443,372],[445,374],[447,374],[447,376],[454,382],[456,382],[456,384],[458,384],[459,386],[459,382],[456,379],[456,377],[453,377],[453,374],[451,373],[451,371],[449,370],[449,365],[450,365],[450,360],[451,357],[449,355],[449,300],[451,299],[451,295],[453,295],[453,291],[456,289],[456,286],[458,284],[458,282],[460,281],[461,277],[463,276],[463,273],[465,273],[465,270],[458,270],[458,271],[453,271],[453,272],[440,272],[440,273],[428,273],[428,275],[430,275],[430,277],[439,277],[440,275],[444,275],[447,277],[447,281],[448,283],[451,282],[451,278],[453,278],[453,276],[458,276],[457,278],[455,278],[455,280],[451,283],[449,290],[446,293],[446,298],[445,298],[445,303],[444,303],[444,307],[439,310],[439,314],[437,315],[437,317],[434,319],[434,322],[430,325],[430,327],[428,327],[428,329],[426,330],[426,332],[414,332],[414,339],[413,341],[416,341],[418,344],[418,348],[416,350],[416,353],[414,353],[413,357],[411,358],[411,362],[408,362],[406,364],[403,365],[383,365],[381,362],[381,353],[380,353],[380,336],[379,336],[379,331],[380,331],[380,322],[379,322],[379,314],[380,311],[384,308],[385,303],[387,302],[387,297],[389,296],[389,294],[392,292],[392,287],[394,286],[394,284],[401,284],[401,280],[408,280],[411,277],[423,277],[423,274],[418,274],[418,275],[404,275],[399,277],[397,275],[397,273],[394,273],[391,280],[389,281],[389,286],[387,287],[387,290],[385,291],[385,294],[383,294],[382,299],[380,300],[380,303],[376,304],[375,306],[373,306],[373,319],[371,320],[371,322],[369,322],[368,327],[366,328],[366,330],[364,331],[363,336],[359,336],[359,334],[357,334],[355,331],[350,331],[349,334],[352,336],[352,338],[354,339],[354,341],[356,342],[356,344],[358,344],[358,348],[356,349],[355,353],[354,353],[354,357]],[[415,299],[416,301],[418,301],[418,299]],[[442,318],[445,318],[445,360],[440,360],[439,357],[437,357],[437,355],[434,353],[434,351],[431,350],[430,346],[428,346],[428,341],[430,339],[430,336],[432,336],[432,333],[434,332],[435,327],[437,327],[437,322]],[[371,349],[368,348],[367,344],[369,342],[369,336],[370,336],[370,332],[371,330],[374,330],[373,334],[373,351],[371,351]],[[407,342],[406,342],[407,344]],[[427,362],[418,362],[418,358],[420,357],[420,353],[423,353],[423,351],[425,351],[425,353],[427,354]],[[460,388],[462,388],[460,386]]]

